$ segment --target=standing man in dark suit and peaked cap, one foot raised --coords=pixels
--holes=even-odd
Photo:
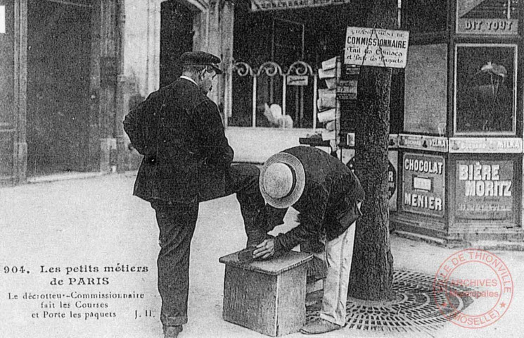
[[[248,245],[264,239],[257,218],[264,208],[255,165],[231,165],[234,151],[217,105],[206,94],[222,74],[220,59],[203,51],[181,55],[182,76],[152,93],[124,120],[143,160],[134,195],[149,201],[160,229],[158,290],[166,338],[187,323],[189,253],[198,204],[236,193]],[[265,223],[260,223],[265,224]]]

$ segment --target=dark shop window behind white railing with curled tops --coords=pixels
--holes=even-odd
[[[236,56],[249,62],[234,64],[227,125],[312,127],[314,76],[311,65],[301,63],[305,25],[264,15],[240,18]]]

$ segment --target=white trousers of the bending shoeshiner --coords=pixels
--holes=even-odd
[[[355,227],[353,223],[343,234],[327,242],[323,252],[314,253],[327,265],[320,318],[340,326],[345,325]]]

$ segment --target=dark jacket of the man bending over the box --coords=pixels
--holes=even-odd
[[[305,187],[293,204],[299,225],[275,238],[275,251],[289,251],[301,242],[318,241],[324,234],[335,239],[362,213],[357,202],[364,189],[357,176],[338,158],[312,146],[295,146],[284,152],[297,157],[305,171]]]

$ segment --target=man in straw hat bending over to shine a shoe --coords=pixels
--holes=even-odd
[[[364,200],[357,176],[324,151],[295,146],[264,163],[260,190],[267,204],[275,208],[272,215],[278,215],[273,217],[276,224],[292,206],[299,212],[299,225],[265,239],[253,258],[279,256],[298,244],[309,244],[314,256],[326,262],[327,275],[320,318],[307,323],[300,332],[319,334],[340,329],[345,325],[354,222],[362,215],[359,206]]]

